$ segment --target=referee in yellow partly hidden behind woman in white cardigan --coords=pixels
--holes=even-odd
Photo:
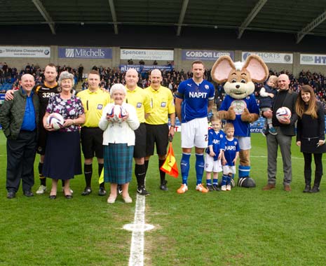
[[[137,179],[137,193],[148,196],[145,177],[145,155],[146,155],[146,126],[145,117],[151,113],[151,99],[149,95],[137,86],[139,80],[136,69],[128,69],[125,73],[125,87],[127,89],[126,102],[135,107],[137,118],[140,120],[140,127],[135,130],[135,147],[133,157],[135,159],[135,176]]]

